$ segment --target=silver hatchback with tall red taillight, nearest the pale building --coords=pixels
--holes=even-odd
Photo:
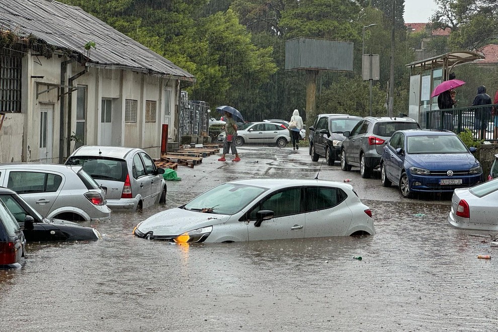
[[[121,146],[81,146],[66,160],[80,165],[107,188],[107,205],[112,210],[137,211],[166,201],[164,169],[142,149]]]

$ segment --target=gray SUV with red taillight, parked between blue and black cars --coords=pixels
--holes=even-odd
[[[379,168],[386,142],[395,131],[404,129],[420,129],[420,126],[411,118],[363,118],[351,131],[344,132],[341,169],[350,171],[353,165],[359,166],[361,177],[370,178],[372,171]]]

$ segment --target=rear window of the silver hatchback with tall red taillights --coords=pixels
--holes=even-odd
[[[66,161],[67,165],[79,165],[95,180],[111,180],[124,182],[128,169],[126,161],[119,158],[96,156],[72,156]]]

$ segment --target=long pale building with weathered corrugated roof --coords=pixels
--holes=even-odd
[[[160,155],[189,72],[53,0],[0,0],[0,162],[63,162],[80,145]]]

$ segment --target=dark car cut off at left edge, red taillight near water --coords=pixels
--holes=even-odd
[[[16,218],[0,201],[0,268],[20,268],[25,264],[26,239]]]

